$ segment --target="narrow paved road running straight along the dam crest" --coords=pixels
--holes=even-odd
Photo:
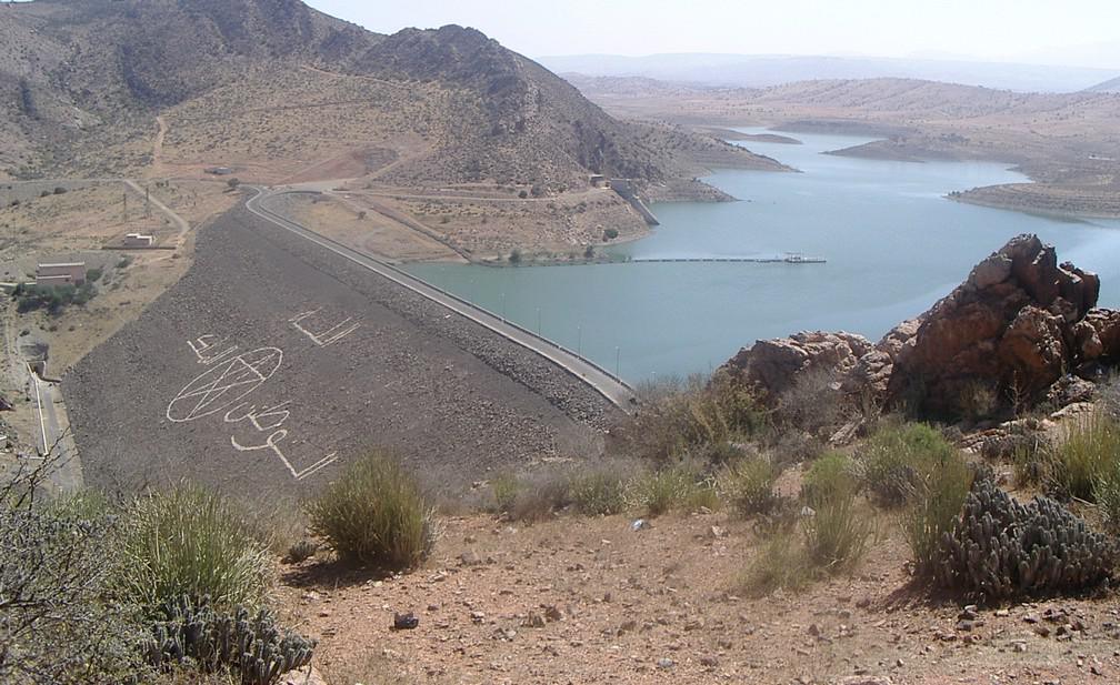
[[[314,231],[297,224],[296,222],[270,212],[264,206],[264,200],[271,196],[282,194],[282,191],[269,191],[261,188],[253,189],[256,191],[256,195],[245,203],[245,207],[256,216],[267,219],[281,228],[290,231],[305,240],[316,243],[320,247],[344,256],[347,260],[368,269],[370,271],[408,288],[412,292],[423,295],[424,298],[428,298],[429,300],[437,302],[456,313],[485,326],[486,328],[521,345],[522,347],[535,351],[575,375],[584,383],[587,383],[596,392],[606,397],[607,401],[623,411],[631,411],[634,407],[636,403],[634,390],[626,385],[624,381],[595,363],[585,359],[550,340],[541,338],[516,323],[479,309],[478,307],[475,307],[474,304],[466,302],[451,293],[429,285],[428,283],[424,283],[423,281],[392,266],[391,264],[346,247],[345,245],[324,237]]]

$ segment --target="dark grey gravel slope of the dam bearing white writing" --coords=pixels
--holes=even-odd
[[[371,445],[432,486],[588,456],[605,401],[538,355],[244,210],[67,374],[90,485],[300,491]]]

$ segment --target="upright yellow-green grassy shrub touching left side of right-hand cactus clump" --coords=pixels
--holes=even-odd
[[[945,454],[917,481],[909,507],[903,514],[903,534],[914,555],[915,570],[933,570],[942,539],[952,532],[964,498],[972,487],[972,469],[959,452]]]

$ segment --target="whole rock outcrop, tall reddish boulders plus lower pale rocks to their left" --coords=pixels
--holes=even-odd
[[[768,401],[814,372],[831,374],[838,392],[943,416],[963,413],[976,393],[1005,406],[1083,401],[1081,381],[1120,362],[1120,312],[1094,309],[1099,294],[1095,274],[1060,265],[1054,247],[1020,235],[874,346],[802,332],[758,341],[722,369]]]

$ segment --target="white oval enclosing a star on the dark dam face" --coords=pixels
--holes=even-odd
[[[190,347],[198,355],[198,349],[194,345]],[[167,405],[168,420],[185,423],[233,405],[271,378],[281,362],[283,351],[276,347],[261,347],[224,362],[211,362],[216,365],[188,383]]]

